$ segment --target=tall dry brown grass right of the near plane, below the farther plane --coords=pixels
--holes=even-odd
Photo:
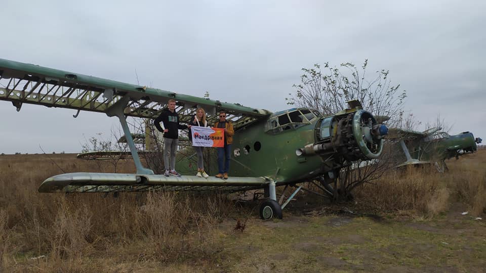
[[[466,204],[473,215],[486,209],[486,151],[449,160],[449,171],[438,173],[433,166],[409,166],[390,171],[374,184],[356,190],[361,202],[385,211],[414,211],[437,215],[456,202]]]

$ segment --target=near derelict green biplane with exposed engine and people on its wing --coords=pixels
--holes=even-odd
[[[182,177],[154,174],[142,165],[126,118],[155,119],[170,99],[177,100],[182,122],[189,121],[197,107],[206,110],[210,121],[216,120],[219,110],[227,111],[236,132],[229,179],[197,177],[189,164],[178,165]],[[379,157],[388,131],[357,101],[348,102],[349,109],[327,117],[306,108],[271,113],[4,59],[0,59],[0,100],[10,101],[17,111],[28,103],[74,109],[77,113],[101,112],[116,116],[123,128],[137,173],[64,173],[47,178],[39,192],[263,189],[267,197],[260,206],[263,219],[281,218],[282,208],[302,189],[297,187],[299,183],[310,181],[328,191],[328,184],[337,179],[343,166]],[[282,202],[284,194],[277,202],[276,186],[293,186],[296,190],[286,202]]]

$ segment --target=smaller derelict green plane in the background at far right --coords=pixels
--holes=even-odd
[[[434,127],[423,132],[391,128],[387,140],[395,142],[403,151],[404,158],[397,167],[414,164],[434,164],[439,172],[447,169],[446,159],[474,153],[480,138],[475,138],[471,132],[449,135]],[[404,161],[403,161],[404,160]]]

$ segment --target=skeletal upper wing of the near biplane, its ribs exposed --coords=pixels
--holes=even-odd
[[[128,96],[127,116],[154,119],[170,99],[177,101],[176,111],[187,122],[197,107],[211,119],[226,110],[235,129],[271,114],[267,110],[223,103],[166,90],[107,80],[38,65],[0,59],[0,100],[11,101],[17,111],[23,103],[84,111],[106,112],[121,98]]]

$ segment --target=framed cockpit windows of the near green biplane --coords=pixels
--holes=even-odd
[[[296,129],[305,124],[310,124],[311,121],[320,117],[322,115],[318,111],[307,108],[293,108],[280,111],[270,117],[265,131],[278,133],[289,129]]]

